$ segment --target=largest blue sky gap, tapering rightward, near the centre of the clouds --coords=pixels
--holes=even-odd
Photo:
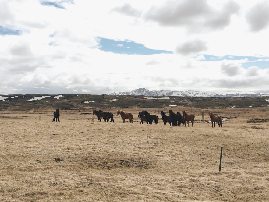
[[[106,52],[127,55],[153,55],[161,53],[173,53],[172,51],[150,49],[145,47],[143,44],[138,44],[134,41],[129,40],[116,41],[102,37],[99,37],[99,40],[99,49]]]

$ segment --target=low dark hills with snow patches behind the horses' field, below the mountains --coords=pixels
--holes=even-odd
[[[140,93],[146,93],[147,90],[141,90]],[[56,108],[61,110],[76,110],[92,112],[93,109],[105,109],[116,112],[122,108],[170,108],[170,107],[196,107],[196,108],[251,108],[269,106],[268,97],[204,97],[198,96],[194,91],[187,91],[189,96],[158,96],[149,91],[147,95],[90,95],[90,94],[26,94],[26,95],[0,95],[0,114],[7,111],[52,111]],[[156,93],[155,92],[155,93]],[[169,93],[163,91],[162,93]],[[172,91],[171,91],[172,92]],[[137,93],[137,92],[135,92]],[[197,92],[198,93],[198,92]],[[193,96],[191,96],[193,95]],[[196,95],[196,96],[195,96]],[[199,94],[201,95],[201,94]],[[212,95],[212,94],[211,94]]]

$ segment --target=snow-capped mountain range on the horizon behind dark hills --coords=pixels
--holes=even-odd
[[[214,92],[201,91],[171,91],[171,90],[156,90],[150,91],[146,88],[139,88],[131,92],[111,93],[110,95],[144,95],[144,96],[180,96],[180,97],[262,97],[269,96],[269,94],[262,93],[236,93],[236,94],[217,94]]]

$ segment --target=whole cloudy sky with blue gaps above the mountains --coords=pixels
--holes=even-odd
[[[267,0],[2,0],[0,94],[269,93]]]

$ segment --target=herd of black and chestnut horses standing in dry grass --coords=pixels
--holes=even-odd
[[[58,110],[59,111],[59,110]],[[56,110],[57,112],[57,110]],[[54,112],[55,113],[55,112]],[[122,122],[125,122],[125,119],[129,119],[130,123],[133,123],[133,114],[131,113],[126,113],[122,110],[117,110],[117,115],[121,115],[122,117]],[[109,119],[111,119],[110,122],[114,122],[114,115],[111,112],[103,112],[101,110],[93,110],[93,115],[96,115],[98,118],[98,122],[101,122],[101,118],[103,118],[104,122],[108,122]],[[188,114],[186,111],[182,112],[182,115],[180,114],[180,112],[177,112],[176,114],[170,109],[169,110],[169,115],[166,115],[164,111],[161,111],[161,117],[162,120],[164,122],[164,125],[166,125],[166,122],[168,122],[170,124],[170,126],[182,126],[185,125],[185,127],[188,124],[189,127],[189,121],[192,124],[194,124],[194,118],[195,115],[193,114]],[[215,127],[215,122],[218,123],[218,127],[222,127],[222,118],[220,116],[215,116],[212,112],[209,112],[209,117],[211,118],[211,122],[212,122],[212,128],[213,128],[213,123],[214,123],[214,127]],[[151,115],[148,111],[143,110],[142,112],[138,112],[138,117],[140,117],[140,124],[143,124],[143,122],[146,122],[147,124],[152,124],[153,121],[155,122],[155,124],[159,124],[158,122],[158,116],[157,115]],[[54,118],[55,119],[55,118]],[[54,121],[53,119],[53,121]],[[57,121],[57,119],[56,119]]]

